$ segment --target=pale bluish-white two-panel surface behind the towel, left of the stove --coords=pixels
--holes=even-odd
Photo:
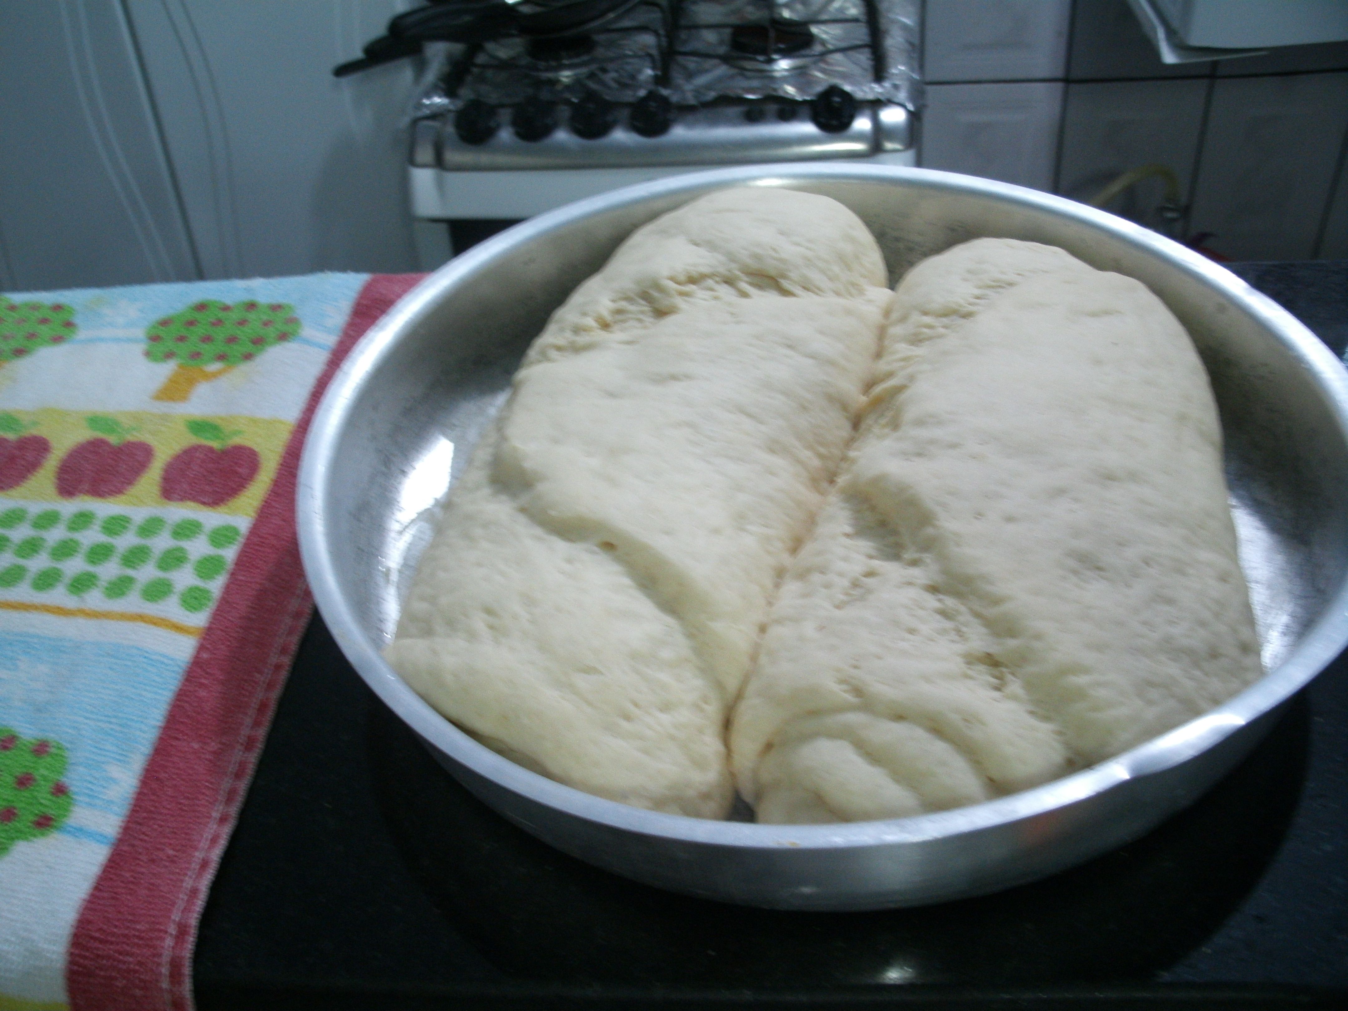
[[[417,270],[412,65],[332,77],[411,3],[0,4],[0,286]]]

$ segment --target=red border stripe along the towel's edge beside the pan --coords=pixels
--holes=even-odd
[[[422,276],[365,283],[309,395],[80,911],[66,964],[73,1011],[193,1007],[197,921],[311,611],[295,535],[305,433],[352,345]]]

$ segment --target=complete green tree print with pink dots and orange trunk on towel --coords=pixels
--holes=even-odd
[[[146,330],[146,357],[174,367],[154,399],[182,403],[200,383],[298,333],[295,307],[284,302],[194,302]]]

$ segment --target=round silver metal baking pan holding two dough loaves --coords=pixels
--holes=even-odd
[[[452,476],[547,315],[634,228],[727,186],[855,210],[891,280],[979,236],[1060,245],[1151,287],[1212,377],[1267,674],[1108,762],[969,807],[848,825],[640,810],[483,747],[380,656]],[[594,197],[516,225],[427,278],[350,353],[314,417],[299,535],[324,619],[380,698],[468,789],[539,838],[659,887],[776,909],[911,906],[995,891],[1104,853],[1197,799],[1348,642],[1348,373],[1294,317],[1202,256],[1060,197],[887,166],[728,168]]]

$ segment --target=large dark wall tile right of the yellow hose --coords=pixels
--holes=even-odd
[[[1348,73],[1213,82],[1190,228],[1239,260],[1314,256],[1348,127]]]

